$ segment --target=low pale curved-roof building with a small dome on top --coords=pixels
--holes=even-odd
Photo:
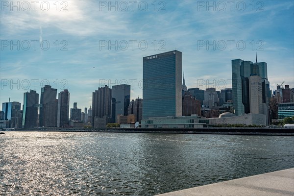
[[[219,118],[210,118],[209,124],[225,125],[225,124],[244,124],[244,125],[266,125],[266,115],[264,114],[245,114],[236,116],[233,113],[222,113]]]

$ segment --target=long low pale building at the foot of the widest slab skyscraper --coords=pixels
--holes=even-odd
[[[182,117],[153,117],[141,121],[142,128],[203,128],[197,115]]]

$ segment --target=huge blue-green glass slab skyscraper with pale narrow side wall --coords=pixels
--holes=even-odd
[[[143,57],[143,119],[182,116],[182,52]]]

